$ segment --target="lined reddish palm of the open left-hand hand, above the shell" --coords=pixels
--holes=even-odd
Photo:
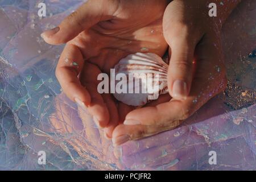
[[[117,12],[111,20],[82,31],[71,43],[80,48],[89,63],[97,65],[103,72],[109,72],[130,53],[154,52],[163,55],[167,48],[162,31],[165,5],[163,3],[156,9],[155,4],[159,2],[148,3],[144,7],[148,14],[145,11],[135,13],[123,4],[119,7],[120,14]]]

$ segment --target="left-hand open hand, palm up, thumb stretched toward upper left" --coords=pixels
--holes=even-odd
[[[88,107],[94,121],[112,137],[114,127],[133,107],[99,94],[97,76],[109,73],[123,57],[135,52],[163,56],[167,43],[162,20],[168,1],[87,1],[53,30],[42,34],[49,44],[67,43],[56,68],[65,94]]]

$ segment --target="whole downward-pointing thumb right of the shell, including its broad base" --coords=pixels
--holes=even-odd
[[[191,90],[195,71],[195,47],[203,36],[203,30],[197,30],[195,24],[189,24],[192,16],[184,16],[183,11],[176,12],[174,7],[176,5],[170,3],[163,17],[163,34],[171,53],[168,90],[173,98],[185,100]],[[178,15],[173,16],[173,12]]]

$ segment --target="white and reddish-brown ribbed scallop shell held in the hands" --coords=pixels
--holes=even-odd
[[[127,105],[142,106],[157,99],[150,98],[152,96],[159,96],[160,94],[168,93],[167,88],[167,72],[168,65],[164,63],[163,59],[154,53],[135,53],[120,60],[114,67],[115,75],[118,73],[124,73],[126,75],[127,92],[126,93],[114,93],[114,97]],[[141,77],[141,73],[144,73],[147,77]],[[129,79],[129,75],[133,79]],[[139,80],[139,84],[135,86],[134,78]],[[148,83],[148,78],[152,78],[151,85]],[[117,85],[115,81],[115,85]],[[138,88],[139,86],[139,88]],[[151,88],[151,92],[148,91]],[[135,93],[135,90],[139,89],[139,93]],[[142,90],[146,92],[142,93]],[[130,91],[130,92],[129,92]]]

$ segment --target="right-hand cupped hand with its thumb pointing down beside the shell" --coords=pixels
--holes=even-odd
[[[168,89],[172,99],[127,114],[113,132],[114,144],[173,129],[225,89],[220,31],[223,18],[238,2],[227,2],[218,10],[222,19],[208,16],[207,1],[175,0],[168,5],[163,33],[170,46]]]

